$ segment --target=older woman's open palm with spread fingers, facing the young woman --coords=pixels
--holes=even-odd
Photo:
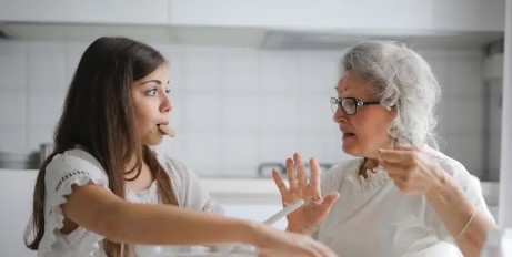
[[[297,199],[304,199],[305,204],[298,210],[289,214],[287,230],[310,234],[314,227],[329,213],[340,194],[333,192],[322,198],[320,189],[320,166],[317,160],[310,160],[311,176],[308,181],[301,156],[295,153],[293,158],[287,160],[287,176],[289,186],[284,184],[281,175],[275,169],[272,176],[281,193],[283,205],[289,205]]]

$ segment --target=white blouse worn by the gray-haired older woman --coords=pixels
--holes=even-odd
[[[480,181],[458,161],[425,147],[462,188],[468,199],[492,220]],[[313,237],[343,257],[462,256],[444,224],[423,195],[403,194],[383,167],[359,176],[361,158],[341,163],[322,175],[322,194],[340,198]]]

